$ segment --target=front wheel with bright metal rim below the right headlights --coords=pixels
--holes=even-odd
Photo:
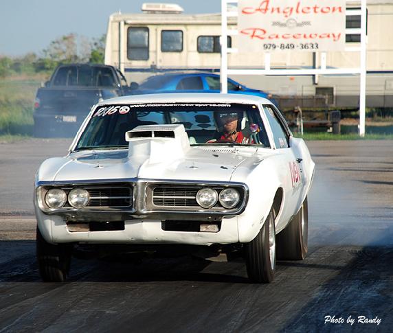
[[[256,238],[245,244],[245,259],[251,282],[273,281],[276,269],[276,228],[273,209]]]

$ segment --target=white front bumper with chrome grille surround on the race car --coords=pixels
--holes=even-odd
[[[134,243],[134,244],[233,244],[239,242],[238,217],[243,213],[248,200],[248,187],[244,184],[236,183],[244,189],[242,204],[232,211],[225,209],[201,209],[186,207],[181,209],[168,209],[152,207],[149,195],[150,186],[159,186],[161,181],[151,181],[143,179],[128,179],[128,183],[133,185],[133,207],[129,209],[109,209],[93,207],[88,209],[64,209],[48,210],[43,207],[42,191],[48,187],[70,187],[83,186],[84,183],[46,183],[36,184],[36,197],[34,200],[38,227],[47,242],[90,242],[90,243]],[[102,181],[100,182],[102,184]],[[113,183],[113,181],[112,181]],[[124,184],[124,181],[122,181]],[[165,183],[168,183],[166,181]],[[170,182],[171,185],[183,182]],[[86,184],[86,182],[85,182]],[[188,185],[212,186],[205,183],[187,183]],[[234,186],[234,183],[214,183],[216,186]],[[89,183],[91,186],[91,183]],[[207,225],[218,225],[218,231],[168,231],[164,229],[163,222],[174,220],[180,223],[201,222]],[[124,229],[91,231],[89,222],[93,223],[124,223]],[[87,226],[73,231],[70,225]]]

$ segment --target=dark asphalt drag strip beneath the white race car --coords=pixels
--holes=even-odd
[[[41,142],[39,157],[30,141],[18,144],[36,156],[34,167],[52,149]],[[0,183],[7,203],[0,207],[0,332],[391,332],[393,145],[308,146],[317,163],[308,257],[278,262],[273,283],[260,285],[249,284],[241,258],[190,257],[74,259],[68,282],[43,283],[32,206],[2,190],[10,183],[23,188],[23,174],[34,172],[13,168]],[[12,168],[17,158],[7,149],[3,167]]]

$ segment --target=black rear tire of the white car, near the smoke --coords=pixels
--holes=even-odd
[[[279,260],[303,260],[307,254],[308,205],[307,197],[289,225],[277,235]]]

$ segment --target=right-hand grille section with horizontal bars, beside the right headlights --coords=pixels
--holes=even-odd
[[[197,192],[201,187],[158,186],[153,189],[153,204],[164,207],[199,207]]]

